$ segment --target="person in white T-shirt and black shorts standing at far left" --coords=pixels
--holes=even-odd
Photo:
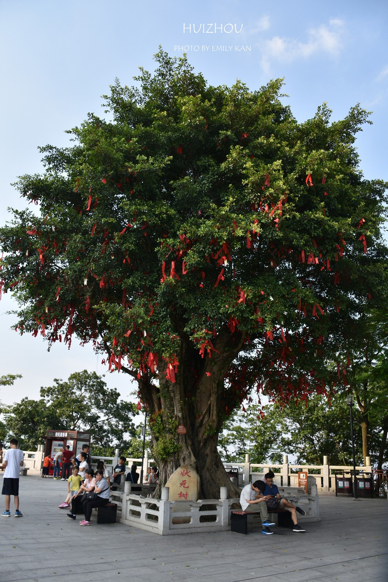
[[[15,502],[15,517],[23,517],[23,513],[19,511],[19,473],[20,467],[23,467],[24,454],[18,448],[19,442],[16,438],[9,441],[10,448],[5,451],[3,456],[2,468],[4,471],[2,495],[5,495],[5,512],[2,517],[10,516],[10,499],[13,495]]]

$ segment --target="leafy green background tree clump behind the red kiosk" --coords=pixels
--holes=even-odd
[[[67,381],[55,378],[54,382],[41,388],[40,400],[23,398],[3,407],[6,429],[18,435],[21,446],[36,450],[51,428],[90,431],[97,455],[113,455],[115,448],[129,446],[136,435],[134,404],[121,400],[119,392],[108,388],[95,372],[74,372]]]

